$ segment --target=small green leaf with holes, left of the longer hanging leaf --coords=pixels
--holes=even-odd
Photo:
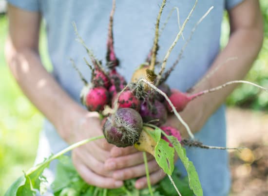
[[[168,175],[171,175],[174,170],[174,149],[169,146],[169,143],[160,139],[154,149],[154,157],[158,165]]]

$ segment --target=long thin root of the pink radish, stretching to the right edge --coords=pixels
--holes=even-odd
[[[258,87],[258,88],[261,88],[263,90],[265,90],[266,92],[268,92],[268,88],[265,88],[265,87],[262,87],[262,86],[259,86],[257,84],[254,84],[254,83],[251,83],[249,81],[244,81],[244,80],[234,80],[234,81],[230,81],[230,82],[227,82],[221,86],[218,86],[218,87],[214,87],[214,88],[211,88],[211,89],[207,89],[207,90],[203,90],[201,92],[198,92],[198,93],[195,93],[193,95],[191,95],[189,98],[191,100],[203,95],[203,94],[207,94],[207,93],[210,93],[210,92],[214,92],[216,90],[220,90],[221,88],[224,88],[224,87],[227,87],[229,85],[232,85],[232,84],[249,84],[249,85],[252,85],[252,86],[255,86],[255,87]]]

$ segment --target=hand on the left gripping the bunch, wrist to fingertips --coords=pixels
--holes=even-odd
[[[73,130],[70,142],[78,142],[103,134],[97,112],[82,111],[80,115],[73,118],[68,127]],[[87,183],[110,189],[123,185],[122,180],[114,179],[113,172],[104,167],[104,162],[110,157],[112,147],[113,145],[108,144],[105,139],[99,139],[73,150],[74,166]]]

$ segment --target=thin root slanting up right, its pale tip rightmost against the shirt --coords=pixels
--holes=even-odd
[[[209,10],[208,10],[208,11],[207,11],[207,12],[206,12],[206,13],[199,19],[199,21],[195,23],[194,27],[191,29],[191,34],[190,34],[189,38],[187,39],[187,41],[185,42],[185,44],[184,44],[183,47],[181,48],[181,51],[180,51],[180,53],[179,53],[178,58],[177,58],[176,61],[173,63],[173,65],[169,68],[169,70],[166,71],[166,72],[163,74],[164,76],[163,76],[163,77],[161,76],[161,79],[160,79],[159,84],[165,82],[165,81],[168,79],[168,77],[170,76],[171,72],[174,70],[175,66],[178,65],[179,61],[180,61],[181,58],[182,58],[182,54],[183,54],[183,52],[184,52],[186,46],[189,44],[189,42],[190,42],[190,40],[191,40],[191,38],[192,38],[192,35],[193,35],[193,33],[194,33],[196,27],[198,26],[198,24],[200,24],[200,23],[207,17],[207,15],[211,12],[212,9],[213,9],[213,6],[211,6],[210,9],[209,9]]]

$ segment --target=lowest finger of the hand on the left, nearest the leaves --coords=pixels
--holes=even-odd
[[[77,169],[77,172],[88,184],[106,189],[115,189],[123,186],[123,181],[97,175],[79,160],[74,161],[74,165]]]

